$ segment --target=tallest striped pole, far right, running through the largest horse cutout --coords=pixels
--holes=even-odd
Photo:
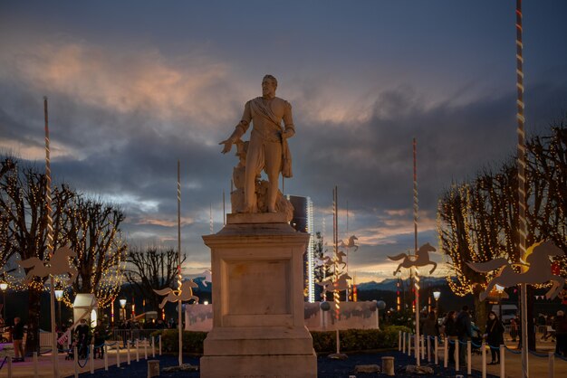
[[[522,258],[525,258],[525,240],[527,237],[527,224],[525,222],[525,133],[524,133],[524,58],[522,57],[522,0],[516,0],[516,89],[518,120],[518,209],[519,209],[519,247]],[[528,317],[527,317],[527,285],[520,286],[521,312],[522,312],[522,371],[523,376],[529,376],[528,370]]]

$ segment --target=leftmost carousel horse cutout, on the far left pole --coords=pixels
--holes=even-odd
[[[18,261],[18,265],[22,268],[29,269],[27,275],[22,280],[22,283],[27,285],[32,281],[34,276],[44,278],[50,274],[53,276],[59,274],[69,275],[69,282],[73,282],[77,278],[77,274],[79,272],[76,268],[69,264],[70,257],[77,257],[77,253],[69,247],[64,246],[55,250],[51,260],[47,262],[39,260],[36,257]]]

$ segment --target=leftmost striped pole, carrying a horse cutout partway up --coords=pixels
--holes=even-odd
[[[53,257],[53,218],[52,218],[52,170],[49,150],[49,118],[47,114],[47,97],[43,97],[43,116],[45,118],[45,208],[47,211],[47,253],[49,260]],[[57,333],[55,332],[55,282],[53,275],[50,281],[50,306],[52,317],[52,357],[53,377],[59,378],[59,355],[57,354]]]

